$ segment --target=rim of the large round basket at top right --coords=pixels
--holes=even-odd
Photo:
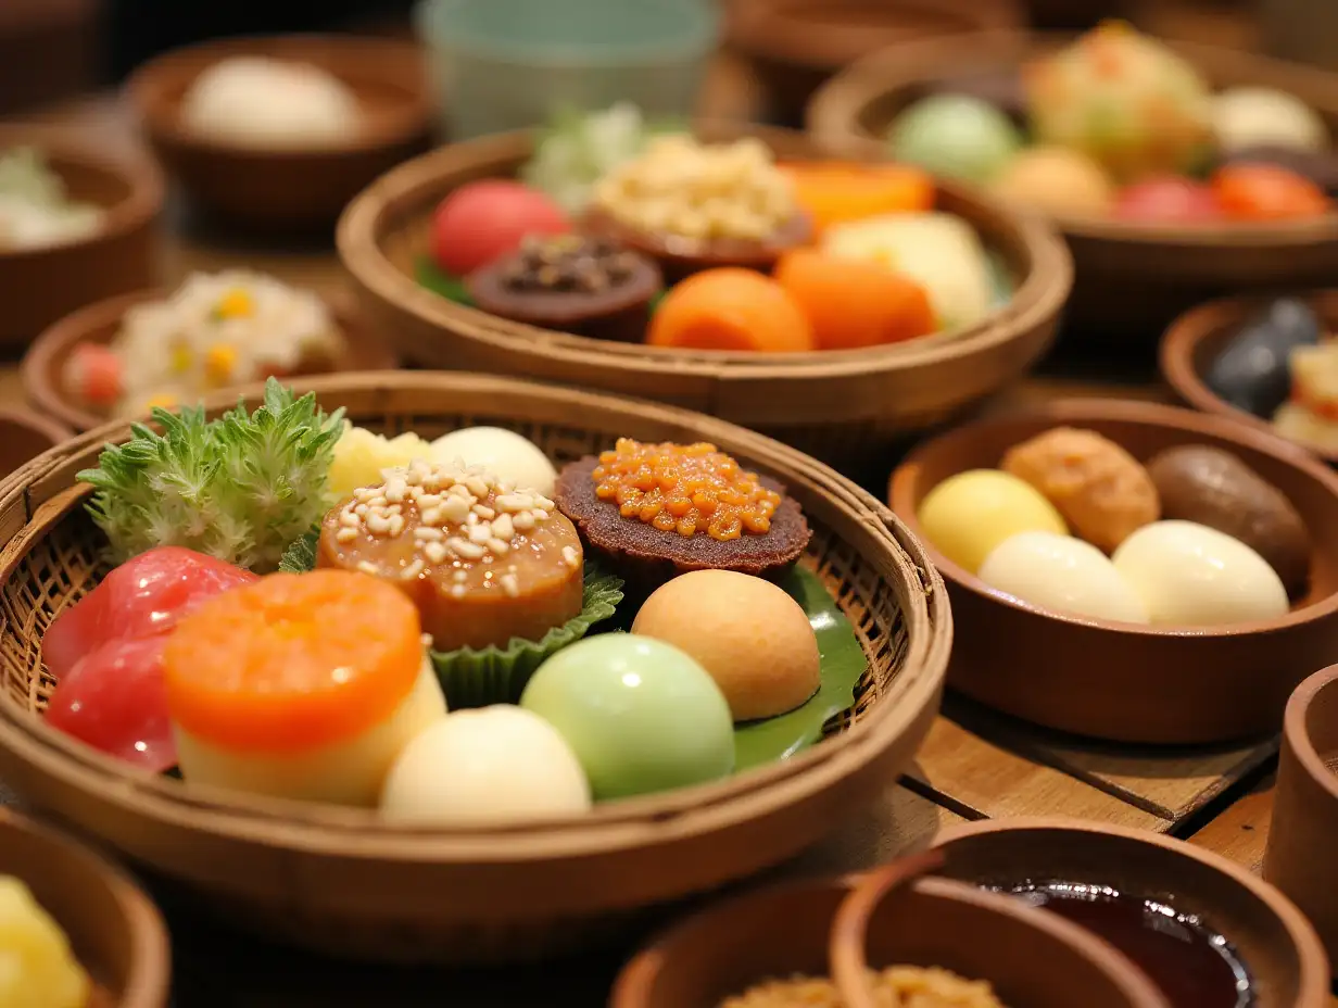
[[[891,46],[858,60],[835,75],[808,104],[809,133],[828,143],[882,141],[867,124],[870,110],[894,91],[949,76],[953,70],[989,70],[1013,66],[1040,52],[1050,52],[1076,36],[1066,32],[977,32],[939,36]],[[1258,56],[1251,52],[1159,39],[1208,78],[1266,83],[1314,107],[1338,130],[1338,75],[1311,67]],[[1132,224],[1098,217],[1056,216],[1068,236],[1092,241],[1183,249],[1270,250],[1323,246],[1338,242],[1338,212],[1305,221],[1206,224],[1193,226]]]

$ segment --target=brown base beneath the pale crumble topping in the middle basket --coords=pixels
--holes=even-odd
[[[796,213],[765,238],[685,238],[680,234],[657,234],[629,228],[605,210],[587,213],[585,228],[603,234],[628,248],[652,257],[665,277],[677,282],[693,273],[716,266],[747,266],[769,273],[789,249],[807,245],[814,234],[812,221]]]

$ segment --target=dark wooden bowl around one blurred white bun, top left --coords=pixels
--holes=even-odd
[[[182,99],[229,56],[308,63],[356,94],[364,127],[337,146],[270,150],[214,141],[186,127]],[[167,173],[230,226],[296,230],[329,225],[368,182],[427,146],[432,122],[423,56],[413,43],[357,36],[225,39],[145,63],[127,83]]]

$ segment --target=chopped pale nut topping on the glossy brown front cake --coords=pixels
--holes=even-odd
[[[451,565],[459,572],[460,594],[464,570],[496,562],[502,590],[519,592],[516,568],[507,561],[520,548],[542,552],[543,543],[533,533],[553,517],[553,501],[474,467],[413,462],[407,469],[388,469],[384,475],[384,483],[356,490],[343,505],[337,543],[364,537],[404,541],[413,556],[405,560],[399,577],[407,581],[428,568]],[[583,562],[570,546],[562,550],[561,561],[571,568]],[[359,565],[364,566],[365,573],[379,573],[375,564]],[[488,572],[487,578],[492,577]]]

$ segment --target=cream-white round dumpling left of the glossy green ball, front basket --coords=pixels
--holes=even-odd
[[[499,826],[581,814],[590,782],[557,728],[520,707],[448,713],[391,767],[381,813],[403,823]]]

